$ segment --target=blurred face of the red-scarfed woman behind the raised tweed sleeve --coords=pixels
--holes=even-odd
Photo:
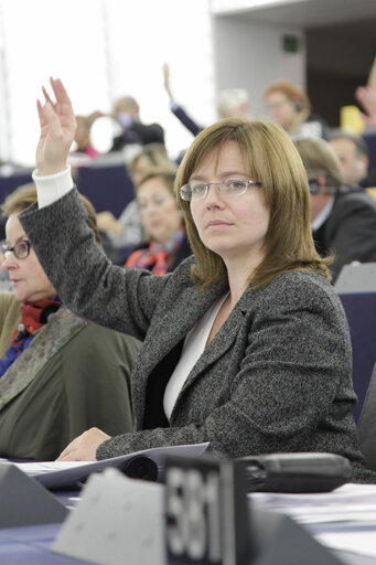
[[[143,182],[137,190],[141,223],[158,243],[168,243],[182,217],[176,201],[165,181],[159,177]]]

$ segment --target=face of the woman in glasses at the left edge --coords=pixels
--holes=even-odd
[[[7,241],[13,246],[20,239],[26,239],[26,234],[18,218],[18,214],[11,214],[6,225]],[[8,252],[2,268],[13,281],[14,294],[21,302],[34,302],[44,298],[53,298],[56,294],[47,279],[33,249],[28,257],[19,259],[13,252]]]

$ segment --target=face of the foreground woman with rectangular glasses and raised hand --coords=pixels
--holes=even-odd
[[[227,141],[200,163],[190,182],[216,183],[257,180],[247,171],[238,145]],[[228,196],[211,184],[203,200],[191,202],[191,213],[203,244],[229,267],[234,262],[255,267],[264,258],[270,211],[260,186],[248,185],[243,194]]]

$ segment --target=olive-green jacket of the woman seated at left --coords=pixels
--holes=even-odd
[[[21,321],[20,302],[0,294],[1,355]],[[135,338],[62,307],[0,379],[0,457],[53,460],[89,427],[131,431]]]

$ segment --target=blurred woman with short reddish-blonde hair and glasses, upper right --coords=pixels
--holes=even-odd
[[[327,139],[325,120],[312,113],[307,94],[289,81],[271,83],[264,93],[272,119],[290,136],[313,136]]]

